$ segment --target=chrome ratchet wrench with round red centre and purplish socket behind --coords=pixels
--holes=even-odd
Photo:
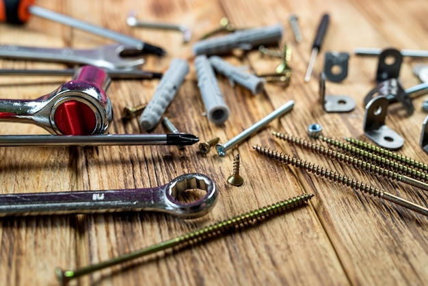
[[[0,120],[34,123],[61,135],[106,133],[113,109],[105,90],[109,75],[102,68],[83,66],[50,94],[28,100],[0,100]]]

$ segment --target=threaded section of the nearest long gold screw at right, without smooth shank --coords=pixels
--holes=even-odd
[[[372,196],[377,196],[379,198],[382,198],[384,196],[384,192],[379,190],[377,187],[373,187],[366,183],[362,183],[356,179],[350,179],[346,175],[318,166],[317,164],[312,164],[308,161],[297,159],[295,157],[283,154],[280,151],[276,151],[276,150],[267,148],[265,146],[257,145],[257,146],[253,146],[253,148],[258,153],[266,155],[271,159],[275,159],[284,164],[288,164],[288,165],[300,168],[302,170],[306,170],[306,172],[311,172],[313,174],[316,174],[319,177],[324,177],[326,179],[329,179],[330,181],[334,181],[336,183],[346,185],[347,187],[352,187],[357,191],[364,192]]]

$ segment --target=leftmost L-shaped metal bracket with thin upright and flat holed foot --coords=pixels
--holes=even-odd
[[[319,76],[319,97],[325,112],[351,112],[355,107],[355,101],[346,95],[325,95],[325,75]]]

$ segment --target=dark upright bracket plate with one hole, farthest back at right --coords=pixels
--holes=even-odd
[[[397,79],[400,74],[403,55],[396,49],[385,49],[379,55],[377,64],[376,81],[379,83],[386,79]]]

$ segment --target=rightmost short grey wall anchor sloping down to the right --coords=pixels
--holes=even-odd
[[[232,66],[221,57],[213,55],[209,57],[211,66],[224,76],[228,77],[232,86],[236,83],[247,88],[252,94],[258,94],[265,88],[265,80],[247,73],[236,66]]]

